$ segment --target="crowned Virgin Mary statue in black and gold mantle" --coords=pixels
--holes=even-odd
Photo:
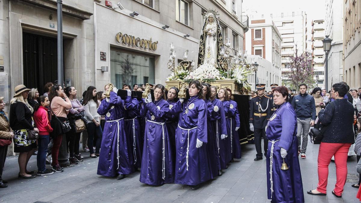
[[[209,9],[205,12],[205,22],[199,42],[198,66],[212,65],[215,68],[221,68],[221,55],[219,50],[223,46],[221,27],[217,17],[218,12]]]

